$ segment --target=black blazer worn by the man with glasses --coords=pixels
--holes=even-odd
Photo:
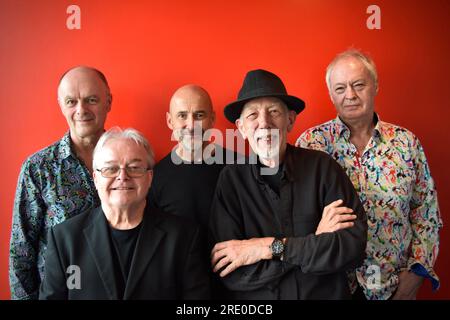
[[[98,207],[49,231],[39,299],[122,299],[108,228]],[[193,223],[146,208],[123,299],[208,299],[201,245]],[[79,289],[68,288],[76,284],[71,265],[79,267]]]

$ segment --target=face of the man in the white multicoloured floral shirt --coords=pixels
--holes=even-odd
[[[349,56],[337,61],[330,74],[330,97],[344,122],[373,119],[377,85],[364,64]]]

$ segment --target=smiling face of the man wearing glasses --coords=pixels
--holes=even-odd
[[[113,210],[130,209],[145,204],[153,171],[145,171],[142,176],[132,178],[124,170],[126,167],[149,167],[147,152],[143,146],[127,138],[108,140],[95,158],[95,169],[105,167],[122,169],[115,178],[105,178],[99,171],[94,170],[94,182],[102,207]]]

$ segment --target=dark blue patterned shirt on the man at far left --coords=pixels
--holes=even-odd
[[[100,205],[87,167],[67,133],[22,165],[14,200],[9,279],[12,299],[37,299],[48,230]]]

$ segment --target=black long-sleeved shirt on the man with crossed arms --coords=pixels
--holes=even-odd
[[[353,185],[327,154],[287,146],[280,195],[258,165],[222,170],[211,211],[214,243],[286,237],[283,261],[263,260],[222,278],[236,299],[350,298],[346,270],[365,257],[367,221]],[[325,206],[343,199],[357,214],[351,228],[316,236]]]

